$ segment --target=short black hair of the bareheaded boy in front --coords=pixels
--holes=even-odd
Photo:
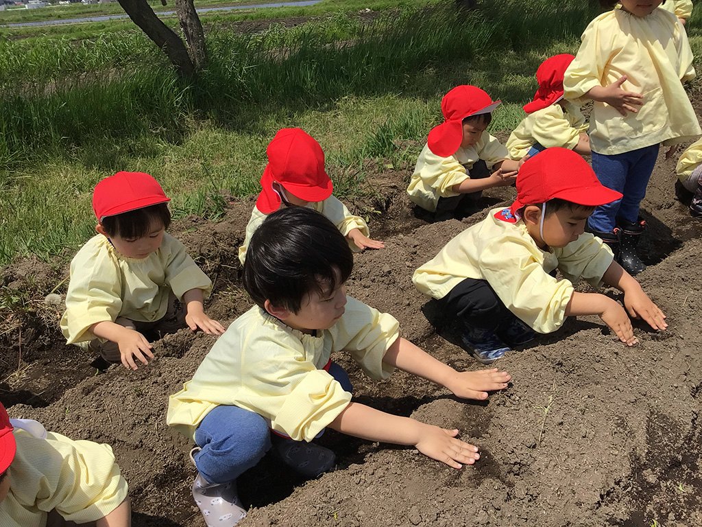
[[[251,237],[244,289],[260,307],[268,300],[298,313],[306,294],[333,291],[352,268],[348,242],[329,219],[306,207],[280,209]]]

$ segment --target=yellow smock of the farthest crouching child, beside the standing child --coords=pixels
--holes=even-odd
[[[544,148],[560,146],[573,150],[580,134],[588,130],[588,123],[577,105],[564,101],[564,106],[553,103],[522,119],[505,145],[510,157],[521,160],[536,143]]]

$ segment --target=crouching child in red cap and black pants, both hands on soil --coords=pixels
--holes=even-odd
[[[412,280],[463,326],[464,343],[484,364],[574,315],[600,315],[633,346],[627,311],[656,330],[667,327],[665,315],[602,240],[583,234],[592,210],[619,197],[600,185],[581,156],[547,148],[519,171],[512,207],[492,210],[453,238]],[[554,278],[556,268],[563,280]],[[626,310],[604,294],[575,292],[573,282],[581,278],[623,291]]]

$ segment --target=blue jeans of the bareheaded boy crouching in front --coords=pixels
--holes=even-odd
[[[345,391],[353,387],[343,367],[331,363],[329,373]],[[254,467],[270,450],[270,429],[263,417],[238,406],[218,406],[195,431],[201,448],[195,466],[209,483],[234,481]]]

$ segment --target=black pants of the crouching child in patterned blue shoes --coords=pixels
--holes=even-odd
[[[502,303],[487,280],[466,278],[439,303],[447,318],[461,326],[494,330],[517,317]]]

